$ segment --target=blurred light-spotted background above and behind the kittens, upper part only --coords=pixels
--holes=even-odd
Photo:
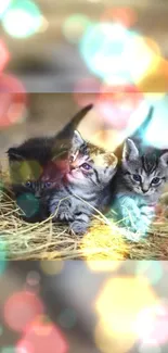
[[[166,0],[1,0],[2,165],[9,147],[56,133],[88,102],[83,137],[114,150],[154,104],[146,139],[167,147],[167,18]]]

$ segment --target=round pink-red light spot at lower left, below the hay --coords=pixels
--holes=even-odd
[[[28,291],[15,292],[5,302],[5,324],[14,331],[25,331],[37,316],[44,312],[41,300]]]

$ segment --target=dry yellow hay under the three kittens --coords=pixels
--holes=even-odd
[[[167,260],[168,220],[157,219],[145,239],[129,241],[116,224],[101,213],[89,232],[69,235],[68,227],[53,224],[52,217],[28,224],[20,216],[9,187],[1,188],[0,256],[7,260]]]

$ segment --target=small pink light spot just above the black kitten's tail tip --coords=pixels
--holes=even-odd
[[[79,106],[94,104],[100,92],[100,80],[95,77],[85,77],[78,80],[74,87],[74,100]]]

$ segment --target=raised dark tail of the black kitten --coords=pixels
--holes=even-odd
[[[74,130],[77,128],[81,119],[86,116],[86,114],[93,108],[93,104],[86,105],[82,108],[73,118],[72,121],[56,135],[56,139],[70,139],[73,138]]]

